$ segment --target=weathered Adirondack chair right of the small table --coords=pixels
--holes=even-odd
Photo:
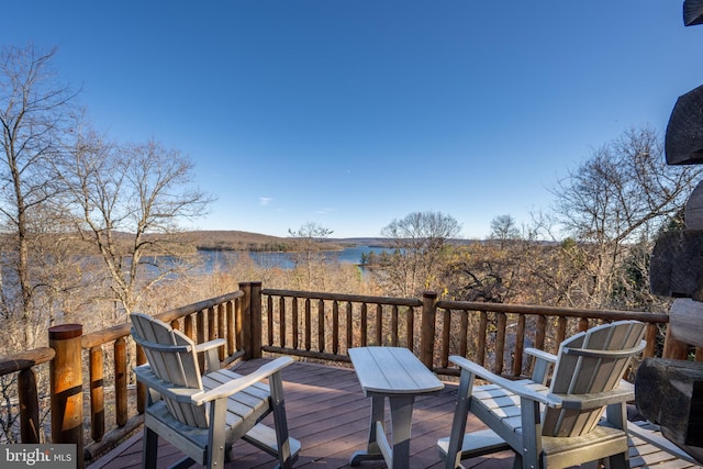
[[[536,357],[529,380],[512,381],[450,357],[461,378],[451,435],[437,443],[445,467],[462,467],[460,459],[512,448],[515,468],[594,466],[601,459],[611,469],[627,468],[625,403],[635,393],[622,377],[645,347],[644,331],[640,322],[618,321],[565,340],[556,357],[529,349]],[[475,387],[475,378],[490,383]],[[488,429],[465,435],[469,411]]]

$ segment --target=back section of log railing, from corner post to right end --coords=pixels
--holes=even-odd
[[[663,313],[437,301],[434,292],[420,300],[264,289],[261,298],[264,351],[349,361],[352,347],[400,345],[442,375],[458,375],[449,356],[461,355],[483,366],[491,359],[494,372],[516,378],[529,367],[525,347],[556,353],[569,331],[616,320],[647,323],[645,356],[654,356],[657,325],[669,321]]]

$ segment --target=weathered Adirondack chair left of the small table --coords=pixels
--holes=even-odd
[[[133,313],[132,336],[147,364],[136,367],[147,387],[142,467],[155,468],[158,436],[186,458],[174,467],[200,464],[222,468],[232,444],[242,438],[276,456],[280,467],[292,468],[300,443],[288,435],[281,368],[292,359],[278,358],[247,376],[219,369],[216,354],[208,355],[211,369],[201,376],[198,353],[214,350],[224,340],[196,346],[168,324]],[[268,384],[260,382],[268,378]],[[275,428],[259,423],[274,413]]]

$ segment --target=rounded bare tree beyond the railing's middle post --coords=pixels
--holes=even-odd
[[[445,243],[460,230],[453,216],[442,212],[414,212],[393,220],[381,230],[393,254],[381,257],[377,280],[389,293],[402,297],[435,288]]]

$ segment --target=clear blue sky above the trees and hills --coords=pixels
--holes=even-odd
[[[628,127],[663,135],[703,83],[681,4],[25,0],[0,43],[58,46],[97,127],[189,155],[217,198],[189,227],[378,236],[438,211],[480,238]]]

